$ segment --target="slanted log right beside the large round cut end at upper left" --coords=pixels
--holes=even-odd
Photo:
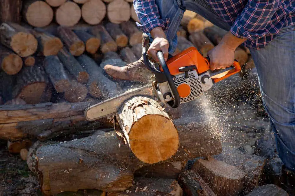
[[[63,43],[60,38],[51,35],[50,33],[32,30],[32,34],[37,38],[38,50],[43,56],[57,55],[58,51],[63,48]]]

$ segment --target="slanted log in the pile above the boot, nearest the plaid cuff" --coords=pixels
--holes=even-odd
[[[134,22],[127,21],[120,24],[122,31],[129,37],[129,44],[134,46],[142,43],[142,32],[137,28]]]

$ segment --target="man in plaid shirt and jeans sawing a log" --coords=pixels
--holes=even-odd
[[[191,10],[227,30],[208,55],[211,70],[226,68],[234,51],[244,43],[257,68],[261,95],[271,119],[279,157],[284,164],[282,181],[295,171],[295,1],[294,0],[134,0],[140,19],[137,26],[148,33],[148,55],[158,61],[161,50],[167,59],[177,45],[176,32],[184,11]],[[117,79],[141,80],[142,59],[123,68],[107,66]],[[130,75],[132,73],[132,77]]]

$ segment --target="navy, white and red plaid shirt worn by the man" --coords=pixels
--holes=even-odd
[[[231,33],[249,48],[263,48],[279,30],[295,22],[294,0],[206,0],[218,16],[231,26]],[[167,30],[169,19],[160,19],[155,0],[134,0],[135,12],[140,19],[137,26],[150,32],[159,26]]]

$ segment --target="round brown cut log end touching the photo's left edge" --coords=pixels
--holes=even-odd
[[[8,75],[15,75],[22,69],[22,58],[16,54],[9,54],[1,63],[1,68]]]

